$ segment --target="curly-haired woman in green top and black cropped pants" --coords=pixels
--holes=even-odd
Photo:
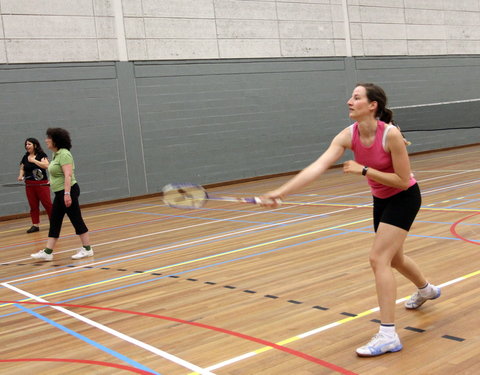
[[[77,251],[72,259],[81,259],[93,256],[93,249],[90,247],[88,228],[82,218],[78,197],[80,188],[75,179],[75,163],[73,162],[70,149],[72,142],[68,131],[62,128],[47,129],[45,139],[48,149],[53,151],[52,161],[48,166],[50,174],[50,187],[55,194],[50,217],[50,230],[48,232],[47,247],[32,254],[34,259],[51,261],[53,249],[60,237],[62,222],[67,214],[70,222],[75,228],[75,233],[80,237],[83,247]]]

